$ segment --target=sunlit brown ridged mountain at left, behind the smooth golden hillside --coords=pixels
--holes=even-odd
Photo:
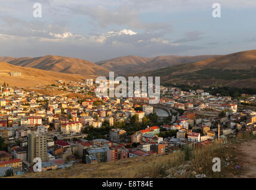
[[[109,75],[109,69],[96,65],[84,59],[68,58],[63,56],[41,56],[37,58],[8,58],[0,60],[12,65],[27,66],[47,71],[64,72],[80,75]]]

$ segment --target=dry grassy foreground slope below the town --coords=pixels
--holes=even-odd
[[[21,178],[195,178],[199,174],[205,174],[206,178],[242,178],[246,168],[242,167],[244,157],[238,147],[242,142],[250,141],[233,139],[227,144],[212,143],[193,150],[185,148],[165,156],[78,164],[66,169],[29,173]],[[214,157],[221,160],[221,172],[212,171]],[[236,166],[240,166],[239,169]]]

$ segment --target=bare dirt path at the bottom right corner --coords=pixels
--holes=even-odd
[[[240,178],[256,178],[256,140],[241,143],[238,151],[244,167]]]

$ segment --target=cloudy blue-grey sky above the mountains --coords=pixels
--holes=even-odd
[[[256,49],[255,18],[255,0],[0,0],[0,56],[224,55]]]

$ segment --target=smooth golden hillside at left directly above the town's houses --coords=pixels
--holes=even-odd
[[[11,77],[10,72],[21,72],[21,77]],[[95,78],[94,75],[87,77]],[[82,81],[87,78],[76,74],[63,74],[61,72],[44,71],[41,69],[14,66],[6,62],[0,62],[0,84],[8,83],[11,86],[33,87],[36,85],[56,84],[57,80]]]

